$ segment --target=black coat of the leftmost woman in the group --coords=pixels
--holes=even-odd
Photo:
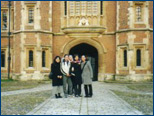
[[[60,70],[60,63],[53,63],[51,64],[51,70],[53,73],[52,76],[52,86],[60,86],[63,85],[63,79],[58,78],[57,76],[62,76],[63,74],[61,73]]]

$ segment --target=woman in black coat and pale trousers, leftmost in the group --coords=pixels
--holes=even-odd
[[[59,56],[56,56],[52,65],[51,65],[51,71],[52,71],[52,86],[53,86],[53,93],[55,94],[56,98],[62,98],[61,93],[63,90],[63,79],[62,79],[62,72],[60,70],[60,62],[61,58]]]

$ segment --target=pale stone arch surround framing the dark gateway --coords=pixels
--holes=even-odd
[[[71,48],[76,45],[86,43],[95,47],[98,51],[98,81],[102,81],[105,74],[105,53],[107,50],[105,47],[96,40],[90,38],[77,38],[73,41],[66,43],[61,49],[61,55],[68,54]]]

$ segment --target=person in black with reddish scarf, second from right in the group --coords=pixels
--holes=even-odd
[[[75,97],[81,97],[81,62],[79,60],[79,56],[74,56],[74,62],[71,65],[70,74],[72,75],[72,83],[75,91]]]

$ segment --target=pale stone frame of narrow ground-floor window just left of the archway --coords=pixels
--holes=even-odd
[[[46,53],[46,56],[45,56],[45,67],[42,66],[42,52],[45,51]],[[42,67],[42,70],[46,70],[46,69],[49,69],[50,68],[50,63],[49,63],[49,48],[48,47],[42,47],[42,51],[41,51],[41,67]]]

